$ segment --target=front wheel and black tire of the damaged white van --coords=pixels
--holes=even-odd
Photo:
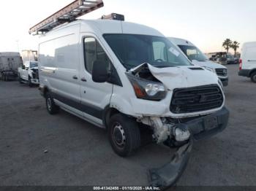
[[[124,114],[114,114],[108,124],[108,139],[117,155],[131,155],[140,147],[138,122]]]

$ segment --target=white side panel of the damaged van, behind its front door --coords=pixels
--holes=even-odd
[[[79,25],[56,33],[39,44],[40,86],[48,87],[57,100],[80,103]]]

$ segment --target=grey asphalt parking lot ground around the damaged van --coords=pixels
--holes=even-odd
[[[256,185],[256,84],[227,66],[230,120],[198,141],[178,185]],[[170,160],[157,144],[118,157],[107,133],[61,111],[50,115],[37,87],[0,81],[0,185],[147,185],[147,170]]]

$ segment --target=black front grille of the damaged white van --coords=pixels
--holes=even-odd
[[[204,85],[173,90],[170,111],[174,114],[201,112],[222,106],[223,95],[219,86]]]

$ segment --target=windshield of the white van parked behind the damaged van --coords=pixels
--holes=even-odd
[[[187,55],[187,58],[189,58],[190,61],[196,60],[196,61],[206,61],[208,58],[206,55],[203,54],[197,47],[194,46],[188,46],[188,45],[178,45],[182,52],[184,52],[185,55]]]

